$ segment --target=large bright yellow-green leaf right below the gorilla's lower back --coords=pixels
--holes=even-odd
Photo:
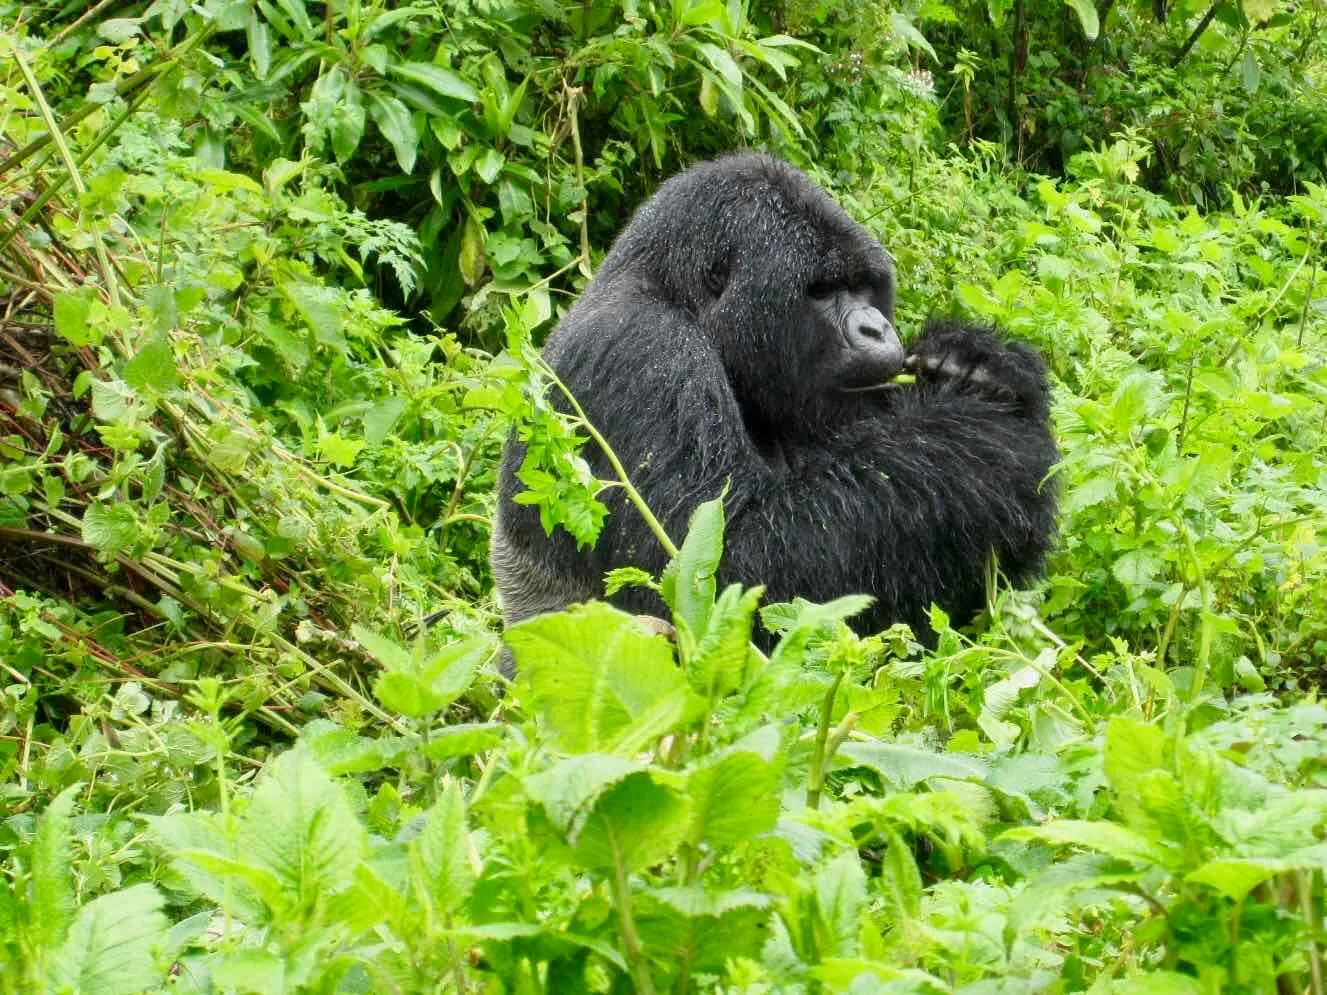
[[[616,608],[591,602],[537,616],[503,638],[561,750],[636,754],[686,715],[690,691],[667,639]]]

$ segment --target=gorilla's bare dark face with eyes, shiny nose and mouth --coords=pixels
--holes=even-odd
[[[808,296],[817,326],[815,381],[820,390],[864,390],[884,383],[904,367],[904,348],[886,313],[886,293],[815,284]]]

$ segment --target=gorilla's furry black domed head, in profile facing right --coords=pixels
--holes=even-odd
[[[776,159],[738,155],[665,183],[596,283],[629,275],[705,330],[748,423],[819,422],[839,391],[902,367],[885,251]]]

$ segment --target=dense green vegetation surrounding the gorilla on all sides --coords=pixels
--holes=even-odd
[[[744,145],[1047,356],[1048,577],[859,638],[707,504],[507,687],[535,344]],[[1322,995],[1324,236],[1323,0],[0,0],[0,992]]]

